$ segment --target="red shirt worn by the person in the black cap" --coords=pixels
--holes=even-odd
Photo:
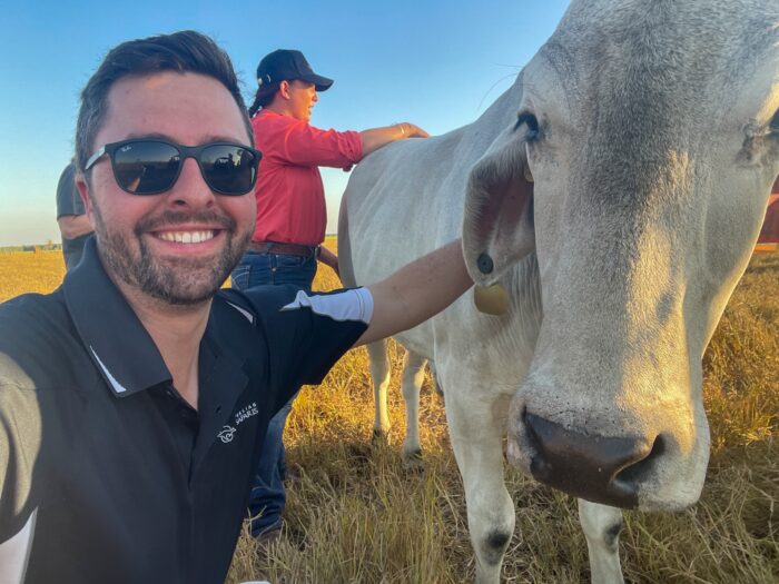
[[[321,130],[268,110],[252,120],[263,152],[257,175],[254,241],[315,246],[327,226],[325,189],[317,167],[348,168],[363,158],[359,132]]]

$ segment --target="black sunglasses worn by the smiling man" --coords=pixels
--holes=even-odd
[[[111,159],[114,177],[131,195],[158,195],[172,188],[181,174],[184,160],[194,158],[206,185],[219,195],[246,195],[257,180],[259,150],[231,142],[181,146],[149,138],[107,143],[95,152],[83,170],[89,170],[102,155]]]

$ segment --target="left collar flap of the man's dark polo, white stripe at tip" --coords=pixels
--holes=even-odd
[[[126,397],[172,382],[155,342],[106,274],[95,237],[62,284],[68,311],[106,384]]]

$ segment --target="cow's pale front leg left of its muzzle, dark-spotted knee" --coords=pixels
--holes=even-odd
[[[514,504],[503,483],[503,428],[494,414],[502,400],[477,383],[446,375],[446,420],[465,487],[469,532],[476,554],[476,583],[497,584],[514,533]]]

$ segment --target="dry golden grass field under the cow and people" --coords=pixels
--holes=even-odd
[[[49,291],[57,251],[0,255],[0,300]],[[327,268],[319,288],[332,288]],[[394,370],[402,350],[392,347]],[[625,514],[621,557],[631,583],[779,582],[779,253],[756,256],[704,359],[712,434],[707,484],[687,512]],[[371,445],[373,397],[364,349],[319,387],[305,388],[286,433],[286,526],[266,553],[243,536],[228,582],[463,583],[473,556],[443,404],[422,395],[424,472],[401,466],[403,403],[391,392],[393,443]],[[511,583],[589,581],[575,502],[511,468],[516,531],[504,565]]]

